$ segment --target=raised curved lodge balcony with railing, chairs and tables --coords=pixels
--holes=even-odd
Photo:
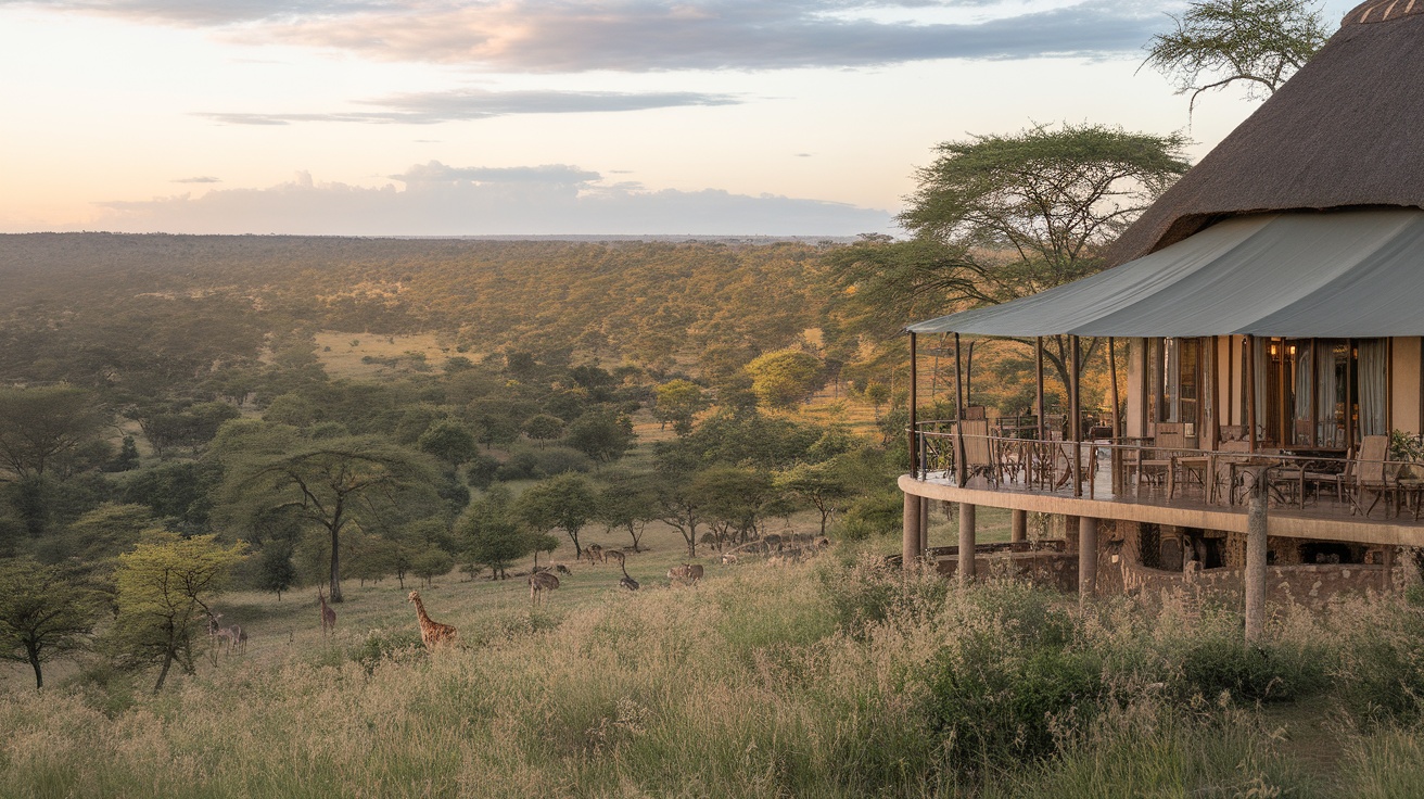
[[[1021,437],[985,420],[916,430],[916,470],[900,489],[975,506],[1245,533],[1247,497],[1262,486],[1270,536],[1424,545],[1418,464],[1346,459],[1312,449],[1216,450],[1180,440]],[[1163,426],[1159,426],[1162,430]],[[1028,432],[1028,436],[1037,430]],[[963,453],[963,456],[961,456]],[[963,460],[963,470],[960,461]],[[963,486],[957,476],[964,476]]]

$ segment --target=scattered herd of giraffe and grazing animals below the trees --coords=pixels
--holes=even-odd
[[[713,541],[721,544],[721,541]],[[768,555],[768,565],[785,565],[787,563],[796,563],[806,557],[815,555],[830,545],[830,540],[820,537],[813,538],[805,534],[792,536],[766,536],[756,541],[742,544],[736,548],[722,551],[719,554],[722,565],[736,565],[740,563],[742,557],[749,554]],[[580,561],[587,561],[590,565],[618,564],[618,570],[622,577],[618,580],[621,588],[628,591],[637,591],[641,588],[639,583],[628,574],[628,555],[622,550],[604,548],[598,544],[591,544],[578,553]],[[553,565],[535,565],[534,571],[528,575],[530,587],[530,604],[543,604],[551,592],[558,590],[560,581],[557,574],[571,575],[572,570],[562,563]],[[702,577],[706,575],[706,568],[699,563],[684,563],[668,568],[668,585],[696,585]],[[322,635],[332,635],[336,631],[336,610],[326,602],[326,594],[320,587],[316,590],[316,601],[320,607],[322,618]],[[459,642],[459,631],[449,625],[441,624],[426,612],[426,605],[420,598],[420,591],[412,591],[406,601],[416,605],[416,621],[420,625],[420,641],[427,649],[434,649],[443,645],[453,645]],[[208,638],[212,642],[212,654],[218,655],[219,651],[226,654],[244,654],[246,651],[248,634],[241,625],[222,625],[222,614],[214,614],[208,611]]]

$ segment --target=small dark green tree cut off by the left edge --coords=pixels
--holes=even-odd
[[[81,648],[94,628],[94,592],[60,567],[30,558],[0,561],[0,659],[27,662],[36,689],[43,665]]]

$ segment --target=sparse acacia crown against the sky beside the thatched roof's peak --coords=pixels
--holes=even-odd
[[[1273,94],[1329,37],[1312,0],[1200,0],[1171,17],[1176,30],[1148,41],[1143,66],[1178,94],[1192,93],[1189,110],[1202,93],[1233,83],[1247,84],[1249,95]]]

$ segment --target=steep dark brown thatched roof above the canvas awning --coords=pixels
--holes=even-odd
[[[1108,251],[1118,265],[1225,216],[1424,208],[1424,0],[1368,0]]]

